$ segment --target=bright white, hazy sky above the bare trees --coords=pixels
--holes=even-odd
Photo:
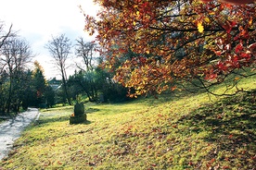
[[[93,0],[0,0],[0,21],[4,21],[6,29],[13,24],[19,36],[25,38],[32,47],[32,61],[37,60],[45,69],[45,78],[59,78],[59,71],[45,44],[64,33],[70,41],[83,37],[92,41],[85,31],[84,17],[79,6],[86,14],[96,16],[98,7]],[[70,55],[70,58],[74,55]],[[74,59],[68,61],[73,65]],[[67,69],[67,74],[73,74],[74,67]]]

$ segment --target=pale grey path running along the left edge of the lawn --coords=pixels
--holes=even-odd
[[[39,115],[38,109],[29,108],[28,111],[20,113],[15,118],[0,124],[0,160],[7,155],[13,142],[19,138],[22,130],[32,120],[37,119]]]

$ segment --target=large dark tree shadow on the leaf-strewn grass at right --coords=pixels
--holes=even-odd
[[[198,108],[179,120],[189,127],[183,132],[206,134],[202,140],[216,146],[209,152],[209,160],[253,169],[256,164],[255,94],[256,90]]]

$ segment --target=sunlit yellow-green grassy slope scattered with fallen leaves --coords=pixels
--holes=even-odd
[[[256,87],[255,78],[242,82]],[[50,109],[16,141],[5,169],[253,169],[253,96],[207,94],[86,104],[88,122],[70,125],[71,107]],[[255,167],[254,167],[255,168]]]

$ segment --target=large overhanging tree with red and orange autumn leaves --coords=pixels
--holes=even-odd
[[[196,0],[95,0],[97,18],[85,16],[115,79],[131,96],[174,90],[198,79],[209,91],[244,67],[255,67],[255,4]],[[128,52],[134,54],[125,57]],[[116,63],[122,63],[115,67]],[[248,75],[255,74],[251,69]]]

